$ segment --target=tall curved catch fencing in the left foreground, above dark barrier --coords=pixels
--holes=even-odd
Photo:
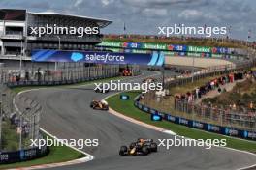
[[[31,146],[30,139],[42,138],[39,128],[42,106],[33,99],[16,96],[7,85],[1,84],[0,92],[1,153],[35,149]],[[0,163],[5,160],[1,158]]]

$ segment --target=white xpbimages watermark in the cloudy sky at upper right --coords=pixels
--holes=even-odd
[[[174,26],[158,27],[158,34],[166,37],[170,36],[205,36],[211,37],[212,35],[226,35],[227,27],[211,27],[211,26],[185,26],[185,24],[175,24]]]

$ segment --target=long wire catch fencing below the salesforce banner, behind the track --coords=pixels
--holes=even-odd
[[[1,68],[0,83],[8,83],[9,85],[45,85],[54,82],[62,84],[71,84],[82,82],[94,78],[107,78],[119,75],[118,65],[100,65],[100,66],[62,66],[57,70],[54,69],[26,69],[14,70],[10,68]]]

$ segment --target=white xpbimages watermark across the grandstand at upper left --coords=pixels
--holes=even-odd
[[[74,26],[58,26],[56,24],[39,27],[29,27],[30,35],[42,37],[43,35],[77,35],[83,37],[84,35],[95,35],[100,33],[99,27],[74,27]]]

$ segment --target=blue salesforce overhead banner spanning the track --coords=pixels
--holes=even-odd
[[[153,52],[151,54],[141,53],[119,53],[103,51],[66,51],[39,49],[32,51],[33,62],[84,62],[96,64],[136,64],[148,66],[162,66],[164,54]]]

